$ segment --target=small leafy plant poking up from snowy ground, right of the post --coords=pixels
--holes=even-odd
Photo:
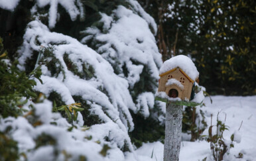
[[[226,119],[226,115],[225,115]],[[208,137],[206,140],[210,142],[210,148],[212,150],[212,156],[214,156],[214,160],[219,161],[224,159],[225,154],[229,154],[230,148],[234,147],[233,142],[239,143],[241,140],[241,137],[238,132],[235,132],[231,134],[230,140],[226,140],[223,136],[224,131],[228,130],[227,125],[225,125],[225,119],[224,121],[220,121],[219,119],[219,113],[217,115],[217,125],[212,125],[208,129]],[[213,127],[216,127],[216,132],[214,133]]]

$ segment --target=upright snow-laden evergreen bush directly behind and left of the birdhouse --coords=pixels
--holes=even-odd
[[[135,113],[133,119],[138,123],[131,133],[132,138],[155,141],[153,137],[157,138],[162,132],[152,133],[155,129],[161,131],[159,122],[162,122],[165,110],[164,103],[153,100],[162,64],[153,35],[157,32],[157,25],[137,1],[126,2],[126,5],[117,5],[111,13],[102,11],[101,19],[82,31],[84,38],[81,42],[101,54],[115,74],[128,81],[136,105],[135,111],[130,111]],[[140,123],[148,126],[143,127]]]

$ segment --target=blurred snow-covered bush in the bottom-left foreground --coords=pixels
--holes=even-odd
[[[52,113],[52,102],[38,100],[38,103],[29,101],[23,106],[28,110],[25,115],[0,119],[1,136],[8,142],[15,140],[19,149],[14,151],[14,143],[9,146],[7,141],[1,143],[6,150],[13,149],[12,157],[16,155],[20,160],[111,160],[111,157],[123,157],[119,148],[109,142],[96,142],[97,138],[87,131],[88,128],[75,124],[71,129],[72,125],[60,113]],[[104,146],[111,146],[115,156],[110,154],[105,158],[108,149]]]

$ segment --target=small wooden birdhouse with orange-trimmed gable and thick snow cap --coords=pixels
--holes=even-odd
[[[198,79],[199,73],[190,58],[179,55],[162,64],[159,76],[158,97],[190,101],[192,87],[194,81]]]

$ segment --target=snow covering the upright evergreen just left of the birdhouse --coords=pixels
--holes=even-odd
[[[91,45],[113,66],[115,74],[128,81],[131,93],[136,90],[133,87],[141,80],[143,71],[147,72],[151,80],[148,84],[153,87],[151,93],[155,93],[162,60],[149,26],[156,24],[152,17],[139,7],[139,3],[129,1],[129,4],[131,9],[120,5],[111,15],[101,13],[100,22],[103,23],[103,31],[97,27],[86,28],[83,32],[86,36],[81,42],[84,44],[93,42]],[[153,107],[148,98],[152,97],[152,94],[147,95],[147,98],[145,96],[144,93],[133,95],[135,97],[133,100],[137,101],[136,109],[131,106],[129,109],[148,117]]]

